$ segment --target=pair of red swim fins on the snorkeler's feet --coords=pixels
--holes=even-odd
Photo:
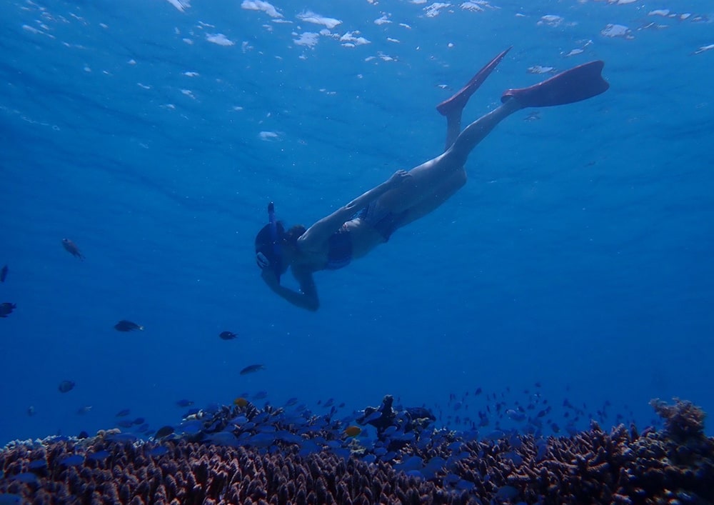
[[[483,84],[483,81],[486,81],[486,78],[510,50],[509,47],[489,61],[458,93],[438,104],[436,110],[444,116],[448,116],[452,111],[463,109],[473,92]],[[603,61],[589,61],[533,86],[507,89],[501,96],[501,101],[505,103],[515,99],[525,108],[572,104],[575,101],[592,98],[604,93],[610,87],[610,84],[602,76],[604,66]]]

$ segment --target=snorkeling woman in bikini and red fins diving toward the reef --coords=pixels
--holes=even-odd
[[[436,109],[446,116],[446,149],[410,171],[396,171],[387,181],[323,217],[306,229],[286,230],[268,204],[268,224],[256,236],[256,262],[268,287],[291,304],[316,311],[320,305],[313,273],[336,270],[365,256],[403,226],[441,206],[466,184],[464,164],[471,151],[498,123],[527,107],[572,104],[607,91],[603,61],[590,61],[521,89],[508,89],[501,105],[461,131],[468,99],[511,48],[488,62],[471,81]],[[299,291],[281,286],[288,267]]]

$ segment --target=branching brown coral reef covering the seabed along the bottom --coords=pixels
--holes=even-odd
[[[476,440],[423,429],[401,436],[405,443],[398,454],[383,458],[375,454],[383,454],[378,449],[385,441],[365,446],[358,439],[343,441],[351,448],[345,457],[334,450],[339,431],[326,424],[313,430],[293,424],[294,438],[276,435],[263,446],[248,437],[246,445],[216,444],[224,437],[196,441],[198,434],[131,441],[112,432],[18,442],[0,451],[0,502],[16,497],[27,504],[130,505],[713,503],[714,439],[704,435],[703,412],[683,401],[653,406],[665,419],[661,431],[638,434],[634,426],[620,424],[607,432],[593,422],[588,431],[569,437]],[[271,432],[265,426],[276,426],[276,434],[286,430],[275,421],[278,415],[271,419],[252,406],[243,412],[263,422],[258,427],[263,434]],[[236,410],[216,416],[226,414]],[[215,427],[216,416],[206,424]],[[393,419],[398,418],[396,413]],[[253,429],[256,422],[250,422]],[[315,443],[318,449],[304,451]]]

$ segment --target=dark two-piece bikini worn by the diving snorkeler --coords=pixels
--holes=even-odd
[[[384,241],[388,241],[394,231],[401,224],[401,218],[404,214],[392,214],[390,211],[383,209],[380,205],[373,202],[362,209],[357,217],[362,219],[373,229],[375,229]],[[327,264],[325,268],[328,270],[341,269],[347,266],[352,261],[352,237],[346,225],[342,225],[338,231],[333,233],[328,239]]]

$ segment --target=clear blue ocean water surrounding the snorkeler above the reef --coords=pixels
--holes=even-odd
[[[650,424],[653,398],[714,411],[710,2],[0,10],[0,442],[258,391],[346,414],[393,394],[444,424],[466,415],[454,399],[486,408],[477,388],[538,391],[558,423],[564,399],[609,402],[605,424]],[[434,106],[508,46],[465,123],[551,75],[536,66],[602,59],[610,90],[504,121],[450,201],[316,274],[318,312],[273,295],[253,251],[267,202],[309,225],[440,154]]]

